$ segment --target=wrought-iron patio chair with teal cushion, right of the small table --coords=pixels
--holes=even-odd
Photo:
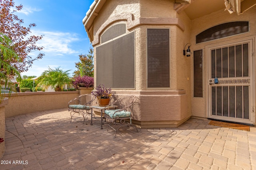
[[[107,121],[108,128],[111,127],[117,133],[118,129],[121,127],[130,126],[138,132],[137,127],[132,124],[132,110],[134,104],[138,104],[138,98],[135,96],[126,96],[106,106],[104,109],[104,118]],[[115,106],[116,109],[107,109],[109,106]],[[116,138],[116,133],[114,138]]]

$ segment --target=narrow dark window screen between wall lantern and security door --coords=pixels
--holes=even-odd
[[[203,50],[194,51],[194,97],[203,97]]]

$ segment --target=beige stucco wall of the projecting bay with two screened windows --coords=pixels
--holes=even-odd
[[[127,32],[135,31],[134,90],[113,89],[117,95],[135,94],[140,100],[134,116],[138,124],[178,125],[191,115],[190,57],[183,56],[186,43],[190,43],[190,20],[186,14],[177,14],[170,0],[108,0],[94,20],[94,78],[100,35],[110,25],[126,22]],[[170,29],[170,88],[147,88],[146,31],[147,28]],[[94,85],[96,85],[94,81]],[[129,92],[128,92],[129,91]],[[152,100],[154,98],[154,100]],[[164,101],[163,101],[164,99]]]

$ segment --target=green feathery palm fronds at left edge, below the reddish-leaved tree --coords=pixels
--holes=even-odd
[[[16,76],[16,80],[21,80],[20,72],[12,64],[13,61],[21,61],[13,48],[12,40],[4,33],[0,33],[0,93],[4,86],[4,88],[10,89],[9,94],[11,94],[11,91],[15,89],[15,84],[11,81],[14,76]],[[0,103],[3,98],[4,95],[1,95]]]

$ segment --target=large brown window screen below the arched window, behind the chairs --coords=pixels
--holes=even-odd
[[[135,88],[134,32],[96,47],[97,86]]]

